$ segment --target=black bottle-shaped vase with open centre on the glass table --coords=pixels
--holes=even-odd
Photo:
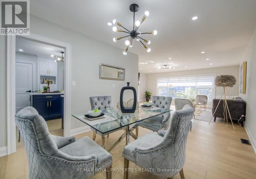
[[[124,90],[132,90],[133,91],[133,106],[132,107],[124,107],[123,106],[123,92]],[[127,86],[122,87],[120,92],[120,109],[122,113],[134,113],[137,106],[137,93],[136,89],[130,86],[130,82],[127,82]]]

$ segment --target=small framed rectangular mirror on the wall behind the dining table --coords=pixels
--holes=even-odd
[[[125,69],[118,66],[99,64],[99,78],[105,80],[122,80],[125,79]]]

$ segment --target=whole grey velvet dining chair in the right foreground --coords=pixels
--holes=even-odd
[[[150,132],[126,145],[123,148],[124,179],[128,178],[129,161],[158,176],[173,178],[180,173],[184,179],[186,140],[193,114],[194,109],[185,105],[172,114],[167,131]]]

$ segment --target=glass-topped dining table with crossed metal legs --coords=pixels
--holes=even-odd
[[[114,144],[112,144],[109,149],[107,149],[108,151],[111,151],[125,137],[126,144],[129,144],[130,136],[137,139],[137,136],[133,133],[133,130],[136,129],[141,121],[168,113],[172,110],[157,107],[139,107],[135,113],[122,113],[120,110],[116,110],[114,108],[104,109],[101,111],[104,113],[104,116],[94,120],[90,120],[84,116],[88,114],[87,112],[73,114],[72,116],[92,127],[93,130],[100,135],[106,135],[118,130],[124,130],[124,133],[114,142]]]

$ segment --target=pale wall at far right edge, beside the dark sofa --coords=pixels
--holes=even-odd
[[[246,94],[240,93],[240,96],[246,101],[245,129],[256,153],[256,29],[246,50],[244,61],[247,61]]]

